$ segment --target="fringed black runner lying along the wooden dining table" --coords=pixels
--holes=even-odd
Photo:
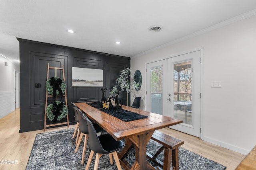
[[[128,111],[128,110],[124,110],[124,109],[122,109],[121,111],[116,111],[115,106],[110,106],[109,109],[103,109],[101,102],[92,102],[92,103],[86,103],[86,104],[88,104],[92,107],[95,107],[96,109],[99,109],[100,111],[108,113],[109,115],[112,115],[122,121],[133,121],[133,120],[144,119],[144,118],[148,117],[148,116],[140,115],[138,113],[134,113],[132,111]]]

